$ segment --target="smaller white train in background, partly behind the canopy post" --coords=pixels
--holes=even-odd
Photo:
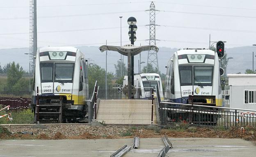
[[[128,84],[128,76],[123,78],[123,86]],[[135,98],[149,98],[151,97],[152,88],[158,88],[161,99],[163,99],[163,89],[161,77],[157,73],[142,73],[134,75],[134,86],[136,88]],[[156,93],[155,93],[156,96]]]

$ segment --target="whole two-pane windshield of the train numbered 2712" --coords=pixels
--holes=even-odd
[[[181,86],[192,86],[192,73],[194,72],[194,85],[212,86],[213,66],[179,66]]]

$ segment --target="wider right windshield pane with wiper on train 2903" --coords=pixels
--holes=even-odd
[[[55,63],[55,82],[72,83],[73,63]]]

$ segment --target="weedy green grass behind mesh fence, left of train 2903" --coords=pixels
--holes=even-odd
[[[34,113],[31,112],[31,109],[17,109],[12,111],[1,111],[0,114],[4,115],[11,113],[11,122],[7,120],[6,117],[0,118],[0,124],[31,124],[34,122]]]

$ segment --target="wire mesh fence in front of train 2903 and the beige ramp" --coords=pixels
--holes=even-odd
[[[93,119],[106,124],[151,124],[152,94],[147,94],[149,97],[134,97],[129,100],[127,95],[117,92],[117,89],[98,90],[97,84],[94,91],[73,89],[55,91],[54,95],[45,90],[1,92],[0,109],[9,106],[9,110],[5,108],[0,111],[0,115],[6,115],[0,117],[0,124],[88,123]],[[61,101],[57,100],[59,96],[63,96]],[[50,97],[50,100],[46,97]],[[72,109],[81,109],[81,112],[66,109],[69,115],[60,116],[69,105]],[[83,108],[79,108],[79,105]],[[8,116],[12,120],[7,118]],[[155,119],[155,116],[153,118]],[[153,123],[156,124],[155,121]]]

